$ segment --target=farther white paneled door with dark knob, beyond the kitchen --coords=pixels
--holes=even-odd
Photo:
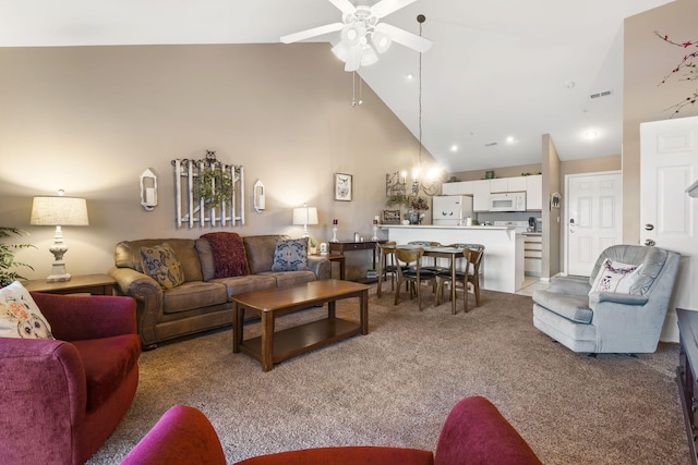
[[[601,252],[623,242],[623,176],[575,174],[566,184],[567,274],[589,276]]]

